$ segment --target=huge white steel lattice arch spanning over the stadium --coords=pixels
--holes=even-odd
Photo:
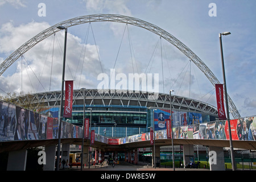
[[[166,39],[168,42],[173,44],[176,48],[178,48],[185,56],[187,56],[196,66],[207,76],[208,80],[215,86],[215,84],[219,84],[217,77],[210,71],[207,65],[189,49],[185,46],[180,40],[176,39],[173,35],[164,31],[162,28],[155,26],[154,24],[145,22],[144,20],[133,18],[130,16],[124,15],[115,15],[115,14],[95,14],[95,15],[85,15],[78,16],[76,18],[68,19],[63,22],[57,23],[54,26],[47,28],[46,30],[40,32],[38,35],[34,36],[34,38],[28,40],[22,46],[20,46],[16,51],[11,53],[9,57],[0,65],[0,76],[3,72],[6,71],[7,68],[10,67],[20,56],[22,56],[25,52],[27,52],[30,48],[34,47],[36,44],[41,42],[42,40],[48,38],[52,34],[60,31],[58,26],[64,26],[66,28],[71,26],[76,26],[79,24],[90,23],[90,22],[118,22],[118,23],[127,23],[133,26],[144,28],[148,31],[153,32],[156,35],[161,36]],[[225,97],[224,97],[225,98]],[[228,96],[229,108],[231,109],[231,114],[234,118],[240,118],[240,113],[238,112],[236,106],[234,105],[231,98]]]

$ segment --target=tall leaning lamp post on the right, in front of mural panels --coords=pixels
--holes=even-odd
[[[223,56],[223,49],[222,49],[222,39],[221,35],[230,35],[230,32],[223,32],[219,34],[220,37],[220,48],[221,48],[221,63],[222,63],[222,73],[223,73],[223,85],[225,90],[225,101],[226,101],[226,115],[228,120],[228,127],[229,127],[229,143],[230,143],[230,153],[231,153],[231,160],[232,160],[232,169],[233,171],[236,170],[236,164],[234,160],[234,150],[233,150],[233,142],[232,142],[232,134],[230,129],[230,118],[229,118],[229,105],[228,105],[228,92],[226,90],[226,76],[225,76],[225,67],[224,67],[224,56]]]

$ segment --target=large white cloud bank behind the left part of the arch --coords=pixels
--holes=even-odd
[[[3,33],[1,33],[0,37],[0,42],[2,42],[0,52],[10,54],[34,35],[41,32],[42,29],[48,27],[49,24],[45,22],[30,22],[18,27],[14,27],[11,22],[3,24],[0,29],[0,32]],[[55,43],[54,49],[53,40]],[[80,38],[69,33],[67,42],[65,80],[75,80],[75,86],[79,88],[88,88],[88,86],[96,88],[93,78],[97,78],[97,75],[102,72],[101,69],[95,69],[95,67],[100,67],[96,46],[82,44]],[[22,58],[16,60],[15,64],[18,65],[16,65],[16,68],[13,68],[16,69],[16,72],[14,70],[9,71],[8,76],[5,74],[1,76],[1,88],[5,92],[11,93],[19,93],[22,90],[25,93],[43,92],[49,89],[60,90],[63,68],[63,45],[64,31],[56,33],[55,37],[52,35],[36,44],[36,46],[24,53]],[[80,55],[82,48],[85,48],[85,46],[86,55],[83,57]],[[1,57],[0,60],[3,60],[3,58]],[[84,63],[82,64],[83,60]],[[23,63],[22,67],[21,61]],[[82,75],[80,75],[81,72]]]

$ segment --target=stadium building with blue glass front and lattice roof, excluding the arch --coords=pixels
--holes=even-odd
[[[29,98],[17,97],[21,105],[28,99],[32,103],[39,103],[42,113],[59,118],[60,91],[34,93]],[[217,108],[205,102],[174,95],[171,96],[171,103],[174,126],[218,120]],[[75,89],[72,118],[64,119],[82,126],[84,116],[92,117],[92,130],[106,137],[120,138],[145,133],[152,126],[152,121],[155,130],[162,130],[166,129],[165,121],[170,118],[170,95],[135,90]]]

